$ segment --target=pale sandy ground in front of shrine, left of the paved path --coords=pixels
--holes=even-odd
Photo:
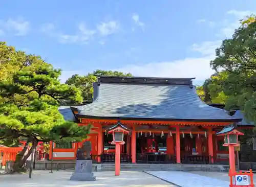
[[[11,187],[174,187],[154,176],[143,172],[122,171],[95,172],[96,181],[70,181],[71,171],[35,171],[32,178],[28,174],[0,175],[0,186]]]

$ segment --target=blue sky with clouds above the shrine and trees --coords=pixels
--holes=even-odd
[[[61,80],[95,69],[135,76],[196,77],[255,0],[3,1],[0,40],[47,58]]]

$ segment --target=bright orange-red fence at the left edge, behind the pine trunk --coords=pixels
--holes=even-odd
[[[2,165],[5,166],[7,161],[14,161],[18,152],[22,151],[22,147],[3,147],[0,148],[0,160]],[[0,162],[1,163],[1,162]]]

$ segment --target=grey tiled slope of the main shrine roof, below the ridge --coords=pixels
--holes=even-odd
[[[87,117],[234,120],[219,108],[208,106],[189,85],[95,84],[91,104],[77,107]]]

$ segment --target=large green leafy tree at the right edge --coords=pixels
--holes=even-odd
[[[247,20],[253,20],[251,17]],[[246,24],[245,24],[246,23]],[[256,122],[256,22],[242,20],[231,39],[216,50],[212,68],[224,69],[217,77],[219,88],[227,96],[226,107],[239,107],[246,119]],[[221,79],[221,80],[220,80]]]

